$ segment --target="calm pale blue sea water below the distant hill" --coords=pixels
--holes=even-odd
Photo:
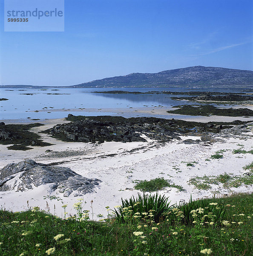
[[[63,118],[72,113],[74,115],[118,115],[109,112],[92,112],[82,111],[54,111],[56,109],[79,109],[79,108],[140,108],[143,106],[175,106],[182,104],[192,104],[190,102],[178,102],[170,99],[169,94],[106,94],[106,93],[91,93],[93,91],[108,91],[108,90],[127,90],[127,91],[193,91],[186,88],[47,88],[47,89],[0,89],[0,98],[9,99],[0,101],[0,119],[51,119]],[[233,91],[228,89],[196,89],[196,91],[215,91],[215,92],[242,92],[240,90]],[[26,95],[25,93],[32,93]],[[49,93],[60,93],[49,94]],[[182,95],[186,96],[186,95]],[[41,109],[46,109],[40,112]],[[39,112],[34,112],[39,111]],[[50,113],[48,113],[50,112]],[[123,115],[124,116],[124,115]],[[134,115],[133,115],[134,116]],[[135,115],[137,116],[137,115]],[[143,116],[143,115],[142,115]],[[147,115],[150,116],[150,115]]]

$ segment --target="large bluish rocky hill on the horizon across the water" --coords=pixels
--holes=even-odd
[[[158,73],[132,73],[71,87],[214,87],[252,88],[253,71],[223,67],[186,67]]]

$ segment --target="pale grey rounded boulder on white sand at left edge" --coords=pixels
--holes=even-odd
[[[24,160],[20,163],[9,163],[0,169],[0,191],[26,191],[41,185],[49,185],[49,192],[58,189],[68,197],[92,193],[101,180],[88,179],[73,172],[67,167],[49,166]]]

